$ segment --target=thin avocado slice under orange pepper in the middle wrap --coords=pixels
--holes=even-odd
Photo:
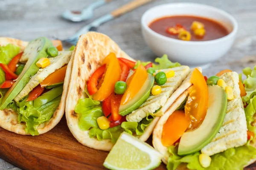
[[[132,111],[135,111],[137,108],[140,107],[150,96],[151,88],[154,85],[154,76],[148,74],[148,78],[146,79],[143,87],[140,89],[139,93],[134,96],[129,102],[125,105],[120,105],[119,107],[119,115],[125,116]]]

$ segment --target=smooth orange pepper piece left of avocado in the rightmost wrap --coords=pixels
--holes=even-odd
[[[185,116],[185,112],[177,110],[172,113],[163,125],[162,144],[166,147],[172,146],[189,126],[189,119]]]

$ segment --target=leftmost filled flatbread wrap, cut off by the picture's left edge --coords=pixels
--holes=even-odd
[[[72,51],[60,41],[0,38],[0,127],[22,135],[51,130],[64,114]]]

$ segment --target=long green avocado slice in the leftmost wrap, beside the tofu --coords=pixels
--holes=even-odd
[[[0,106],[0,110],[6,108],[6,106],[12,102],[12,100],[20,93],[20,91],[25,87],[25,85],[29,82],[30,77],[34,76],[39,67],[35,65],[39,59],[42,57],[48,57],[47,48],[52,46],[52,42],[48,40],[46,37],[40,37],[35,40],[29,42],[27,47],[25,48],[23,55],[28,59],[26,65],[17,78],[16,82],[12,85],[9,91],[3,98],[3,102]]]

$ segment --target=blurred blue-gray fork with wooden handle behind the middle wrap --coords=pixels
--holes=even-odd
[[[116,17],[121,16],[122,14],[125,14],[129,11],[132,11],[142,5],[144,5],[145,3],[148,3],[152,0],[134,0],[131,3],[128,3],[120,8],[117,8],[116,10],[112,11],[109,14],[106,14],[96,20],[94,20],[92,23],[84,26],[83,28],[81,28],[78,32],[76,32],[76,34],[74,34],[73,36],[64,39],[62,41],[64,42],[69,42],[70,44],[76,45],[76,43],[78,42],[78,39],[80,37],[81,34],[85,34],[88,31],[97,31],[97,28],[102,24],[105,23],[109,20],[112,20]]]

